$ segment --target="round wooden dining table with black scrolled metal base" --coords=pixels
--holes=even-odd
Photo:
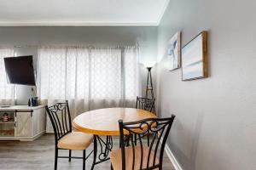
[[[137,122],[154,117],[156,117],[154,113],[135,108],[105,108],[86,111],[76,116],[73,119],[73,127],[79,132],[94,135],[91,169],[96,164],[109,160],[108,155],[113,149],[112,137],[119,136],[119,120]]]

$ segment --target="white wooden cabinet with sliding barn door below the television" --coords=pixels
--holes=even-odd
[[[1,122],[1,114],[3,116],[4,113],[11,117],[9,122]],[[31,141],[37,139],[45,133],[45,121],[44,105],[36,107],[26,105],[0,107],[0,140]],[[14,133],[4,133],[5,131]]]

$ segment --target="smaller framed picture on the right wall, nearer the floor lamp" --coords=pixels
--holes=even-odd
[[[178,31],[168,42],[167,62],[168,71],[180,68],[181,32]]]

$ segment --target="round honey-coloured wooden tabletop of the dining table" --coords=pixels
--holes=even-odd
[[[107,108],[87,111],[73,120],[73,127],[80,132],[96,135],[119,135],[119,119],[134,122],[145,118],[156,117],[149,111],[133,108]]]

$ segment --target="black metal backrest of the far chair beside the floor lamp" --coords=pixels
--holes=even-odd
[[[155,106],[154,106],[155,99],[148,99],[148,98],[139,98],[137,97],[136,100],[136,108],[143,109],[145,111],[149,111],[155,114]]]

